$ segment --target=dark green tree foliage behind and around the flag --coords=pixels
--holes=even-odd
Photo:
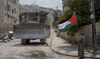
[[[66,7],[68,8],[64,14],[59,16],[59,20],[56,21],[59,23],[61,20],[64,18],[67,18],[69,15],[71,15],[74,11],[76,12],[77,16],[77,22],[78,22],[78,27],[80,28],[81,26],[91,24],[91,19],[90,19],[90,0],[69,0],[66,3]],[[95,0],[95,14],[96,14],[96,22],[100,20],[100,0]],[[74,26],[67,30],[67,33],[70,35],[73,35],[76,31],[73,29],[76,29],[77,26]]]

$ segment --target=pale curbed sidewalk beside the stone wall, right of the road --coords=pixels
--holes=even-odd
[[[78,57],[78,46],[71,45],[66,42],[64,39],[56,36],[56,33],[53,33],[53,44],[52,50],[60,55]],[[85,58],[97,58],[100,59],[100,54],[92,54],[84,52]]]

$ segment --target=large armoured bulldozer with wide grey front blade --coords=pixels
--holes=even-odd
[[[23,22],[13,27],[14,38],[21,39],[22,44],[37,39],[40,39],[40,43],[45,44],[46,38],[50,37],[50,25],[45,23],[47,14],[42,13],[41,16],[41,13],[38,15],[37,13],[24,13],[25,17],[21,18]]]

